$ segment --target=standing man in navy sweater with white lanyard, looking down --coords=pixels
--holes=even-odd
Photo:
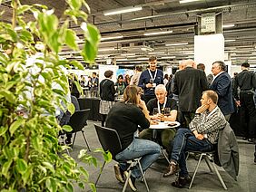
[[[149,69],[142,72],[139,86],[144,91],[144,101],[147,103],[155,98],[154,89],[156,85],[163,84],[163,73],[156,69],[157,59],[155,56],[149,58]]]

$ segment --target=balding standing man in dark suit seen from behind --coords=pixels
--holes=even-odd
[[[208,90],[208,82],[202,70],[193,68],[196,66],[194,61],[182,61],[182,66],[184,69],[174,75],[172,92],[179,97],[179,108],[186,121],[185,126],[189,127],[195,110],[200,106],[202,91]]]

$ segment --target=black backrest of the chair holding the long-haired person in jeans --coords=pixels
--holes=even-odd
[[[122,149],[121,141],[117,131],[95,124],[94,127],[104,151],[109,150],[114,159],[115,155]]]

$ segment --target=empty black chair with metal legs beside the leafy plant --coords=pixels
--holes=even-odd
[[[74,147],[74,140],[76,137],[76,133],[81,131],[84,137],[85,144],[87,145],[88,150],[91,151],[89,144],[87,142],[87,139],[85,138],[84,130],[83,130],[84,126],[87,125],[89,113],[90,113],[90,109],[74,111],[74,114],[71,116],[68,122],[68,125],[70,125],[73,129],[70,133],[74,133],[72,147]]]

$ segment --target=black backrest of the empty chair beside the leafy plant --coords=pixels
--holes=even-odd
[[[72,132],[81,131],[84,126],[87,125],[90,110],[91,109],[74,111],[74,114],[71,116],[68,122],[68,125],[73,128]]]

